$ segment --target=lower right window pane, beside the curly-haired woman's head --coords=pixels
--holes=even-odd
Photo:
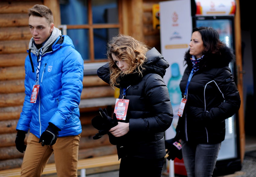
[[[118,28],[94,29],[94,58],[107,58],[107,42],[119,33]]]

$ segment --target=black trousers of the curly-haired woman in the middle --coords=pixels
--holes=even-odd
[[[143,159],[123,157],[120,162],[119,177],[160,177],[165,158]]]

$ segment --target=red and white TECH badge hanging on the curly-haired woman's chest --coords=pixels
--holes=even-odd
[[[115,110],[114,110],[114,113],[116,113],[117,119],[119,120],[126,119],[128,104],[129,104],[129,100],[117,98],[116,104],[115,104]]]

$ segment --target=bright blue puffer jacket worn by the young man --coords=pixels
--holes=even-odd
[[[59,137],[78,135],[82,132],[78,105],[83,88],[83,59],[69,36],[59,36],[49,49],[41,58],[36,103],[30,103],[30,97],[36,84],[37,56],[31,53],[35,72],[26,57],[26,96],[16,129],[30,129],[40,138],[51,122],[61,130]]]

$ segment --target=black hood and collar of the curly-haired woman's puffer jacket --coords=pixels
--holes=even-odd
[[[142,75],[138,72],[127,74],[119,78],[120,87],[128,87],[129,85],[135,85],[142,80],[142,77],[146,74],[158,74],[162,78],[165,75],[166,69],[169,67],[169,63],[164,57],[155,49],[152,48],[146,53],[147,60],[143,65]]]

